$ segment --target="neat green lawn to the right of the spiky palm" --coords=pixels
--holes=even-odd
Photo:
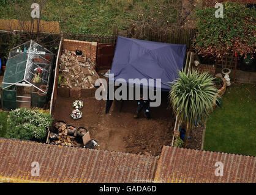
[[[249,91],[252,93],[250,94]],[[256,156],[256,85],[233,84],[211,113],[204,149]]]

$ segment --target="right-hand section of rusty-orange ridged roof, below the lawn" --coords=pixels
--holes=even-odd
[[[220,161],[223,176],[215,176]],[[256,182],[256,157],[164,146],[154,180],[159,182]]]

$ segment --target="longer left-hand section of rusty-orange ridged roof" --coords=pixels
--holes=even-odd
[[[39,176],[31,163],[39,162]],[[152,180],[156,157],[0,138],[0,182]]]

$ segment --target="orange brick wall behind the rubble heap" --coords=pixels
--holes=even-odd
[[[97,42],[64,39],[63,49],[69,51],[76,51],[77,49],[81,50],[86,57],[89,57],[91,61],[94,62],[94,64],[96,63]]]

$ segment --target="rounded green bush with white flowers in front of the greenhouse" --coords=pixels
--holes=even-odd
[[[47,127],[53,121],[50,114],[27,108],[17,108],[9,114],[6,135],[21,140],[43,140],[47,136]]]

